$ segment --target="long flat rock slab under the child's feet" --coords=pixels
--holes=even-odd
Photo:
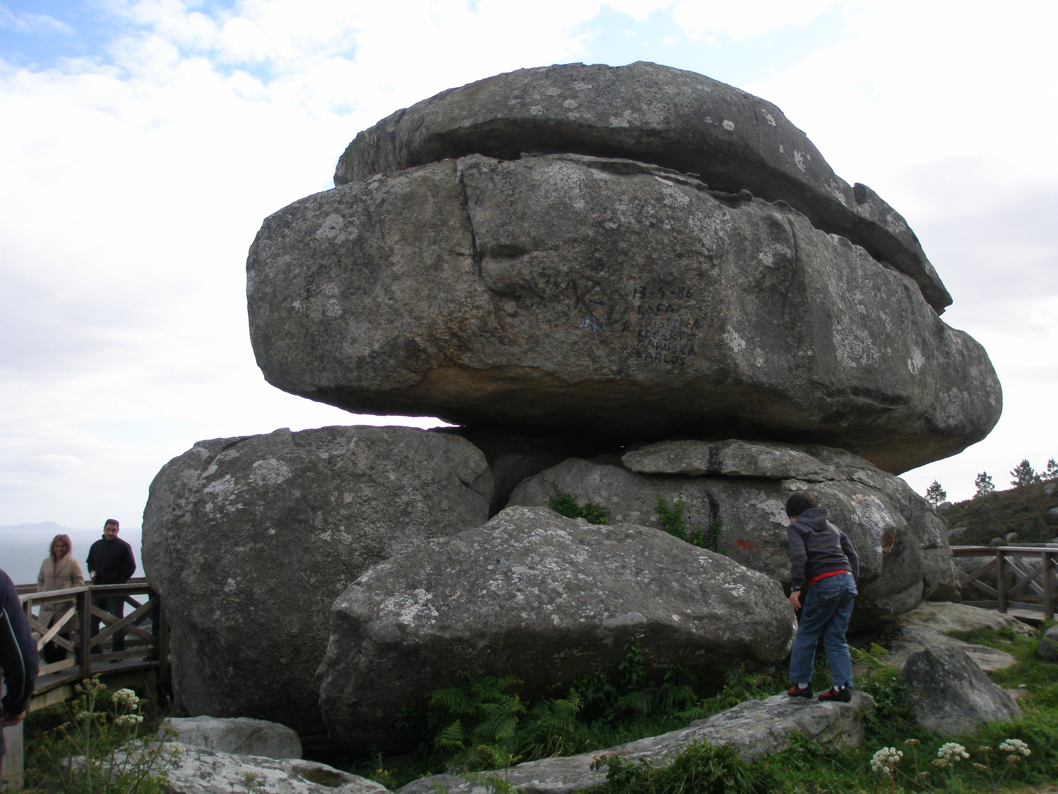
[[[628,761],[646,758],[655,765],[663,764],[688,744],[707,741],[716,746],[730,746],[747,761],[755,761],[770,753],[781,753],[789,744],[791,734],[802,734],[820,744],[859,746],[863,741],[863,715],[874,704],[870,694],[854,691],[851,703],[792,701],[785,694],[767,700],[751,700],[722,711],[707,720],[692,722],[688,727],[661,736],[620,744],[607,750],[583,753],[566,758],[546,758],[511,766],[509,770],[481,773],[496,775],[527,794],[569,794],[592,789],[606,780],[605,766],[592,770],[600,758],[620,757]],[[471,782],[456,775],[435,775],[414,780],[398,794],[435,794],[440,783],[450,794],[482,794],[481,782]]]

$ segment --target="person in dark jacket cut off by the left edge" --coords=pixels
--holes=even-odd
[[[37,643],[30,633],[30,622],[22,611],[15,582],[0,571],[0,668],[6,689],[0,700],[0,714],[4,727],[17,725],[25,717],[30,697],[37,685],[39,665]],[[5,752],[3,732],[0,732],[0,756]]]

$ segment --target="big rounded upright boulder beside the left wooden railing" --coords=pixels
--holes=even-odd
[[[370,565],[488,518],[485,456],[454,435],[334,427],[199,441],[150,486],[143,562],[193,715],[322,732],[331,601]]]

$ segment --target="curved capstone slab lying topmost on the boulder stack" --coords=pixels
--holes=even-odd
[[[951,303],[899,213],[838,177],[778,107],[657,64],[519,69],[442,91],[358,134],[334,184],[444,158],[526,151],[626,157],[700,175],[722,191],[781,199],[908,273],[937,312]]]

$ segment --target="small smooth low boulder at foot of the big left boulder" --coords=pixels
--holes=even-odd
[[[300,758],[302,740],[278,722],[249,717],[170,717],[162,722],[160,735],[176,732],[174,741],[185,746],[264,758]]]

